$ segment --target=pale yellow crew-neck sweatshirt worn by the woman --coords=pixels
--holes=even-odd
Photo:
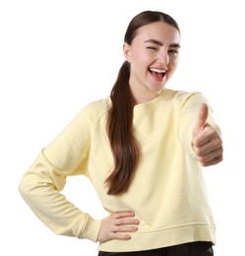
[[[60,193],[67,176],[87,175],[104,209],[133,211],[141,222],[130,240],[100,243],[101,251],[140,251],[200,240],[215,243],[202,168],[191,147],[202,102],[207,99],[201,93],[165,89],[152,101],[135,106],[133,128],[141,160],[122,196],[107,195],[104,183],[113,169],[105,131],[110,97],[85,106],[40,152],[21,179],[19,191],[55,233],[96,241],[101,221]],[[209,123],[218,129],[211,109]]]

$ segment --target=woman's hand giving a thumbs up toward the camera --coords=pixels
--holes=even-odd
[[[207,122],[209,108],[203,103],[193,129],[192,148],[204,166],[214,165],[222,160],[222,141],[217,130]]]

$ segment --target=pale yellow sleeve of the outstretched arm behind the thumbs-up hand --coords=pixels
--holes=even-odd
[[[180,94],[179,99],[181,102],[180,106],[180,118],[178,125],[178,136],[182,147],[185,152],[196,159],[196,154],[192,148],[192,136],[193,128],[198,120],[199,109],[202,103],[207,103],[209,107],[208,123],[213,126],[214,129],[220,135],[219,126],[214,121],[213,108],[210,105],[208,99],[200,92],[192,94]]]

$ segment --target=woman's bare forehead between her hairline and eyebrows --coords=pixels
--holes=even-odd
[[[141,27],[134,40],[146,41],[155,39],[164,43],[179,43],[180,33],[171,25],[156,22]]]

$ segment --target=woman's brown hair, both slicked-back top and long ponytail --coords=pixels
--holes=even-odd
[[[148,24],[163,22],[179,32],[177,23],[169,15],[157,11],[145,11],[133,18],[124,36],[129,45],[138,30]],[[140,147],[134,136],[134,99],[129,86],[130,64],[125,61],[111,90],[112,105],[108,112],[107,132],[114,158],[114,170],[106,178],[108,195],[120,195],[127,191],[140,160]]]

